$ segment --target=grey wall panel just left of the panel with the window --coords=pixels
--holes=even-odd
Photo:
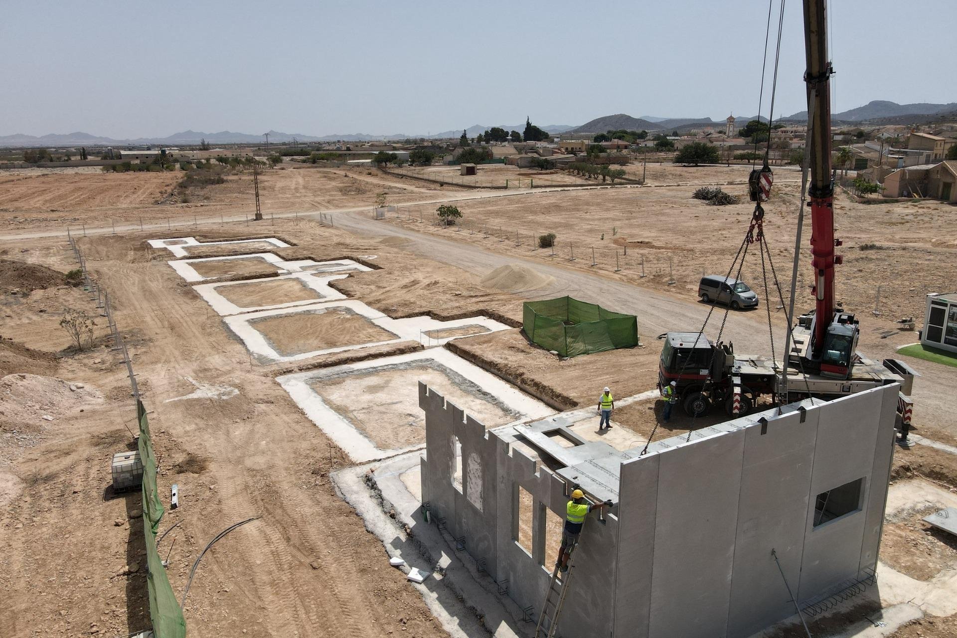
[[[764,434],[745,430],[729,636],[749,636],[794,612],[771,550],[797,591],[816,436],[816,410],[804,423],[791,412],[769,420]]]

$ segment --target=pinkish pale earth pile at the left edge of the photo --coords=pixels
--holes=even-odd
[[[4,429],[15,429],[17,424],[41,425],[102,401],[100,392],[78,382],[36,374],[9,374],[0,379],[0,424]]]

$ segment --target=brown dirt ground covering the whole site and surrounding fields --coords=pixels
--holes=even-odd
[[[634,172],[634,165],[629,168]],[[157,221],[167,215],[191,217],[197,209],[203,215],[252,209],[252,183],[245,175],[197,193],[193,204],[161,205],[153,202],[171,185],[162,180],[175,180],[176,173],[41,176],[31,171],[0,177],[0,208],[12,213],[11,231],[55,229],[83,220],[101,225],[107,218],[135,221],[144,216]],[[344,172],[347,177],[342,176]],[[740,167],[648,166],[650,185],[735,182],[743,174],[746,169]],[[767,207],[768,241],[784,282],[790,274],[793,239],[789,235],[797,206],[796,186],[788,180],[795,176],[778,172],[775,195]],[[726,189],[744,194],[742,186]],[[260,190],[267,211],[371,207],[375,194],[383,191],[388,193],[387,203],[473,192],[431,187],[367,169],[312,166],[266,171]],[[464,201],[458,206],[466,225],[457,232],[409,219],[387,224],[441,233],[496,253],[521,254],[543,262],[561,260],[570,268],[692,297],[702,270],[726,270],[750,209],[746,204],[704,207],[690,199],[691,190],[623,188]],[[943,290],[952,284],[949,272],[941,267],[953,260],[957,249],[957,238],[947,234],[951,209],[933,203],[854,204],[843,195],[838,196],[835,208],[837,235],[845,240],[843,252],[847,255],[838,271],[838,297],[849,309],[867,315],[862,346],[873,346],[875,354],[886,356],[897,345],[916,341],[912,333],[895,332],[884,339],[882,332],[893,329],[893,320],[901,316],[922,316],[924,286]],[[488,238],[482,229],[477,230],[479,220],[488,224]],[[501,236],[495,234],[499,226]],[[515,230],[520,234],[518,247],[509,240]],[[241,224],[204,230],[203,234],[207,239],[263,236],[261,228],[252,231],[256,234]],[[531,235],[545,231],[559,235],[555,257],[546,256],[541,249],[531,250]],[[270,233],[274,232],[297,244],[273,251],[283,258],[377,255],[374,263],[382,271],[351,273],[334,285],[390,317],[430,314],[437,319],[460,319],[484,314],[512,325],[521,321],[522,295],[483,287],[481,277],[463,270],[464,266],[416,256],[403,250],[402,242],[380,242],[376,236],[353,235],[303,219],[277,218],[275,225],[270,225]],[[335,494],[328,473],[347,463],[345,454],[272,381],[279,372],[290,371],[289,366],[252,365],[241,342],[167,266],[167,251],[144,247],[146,238],[182,234],[174,229],[91,235],[81,238],[79,244],[93,275],[110,292],[145,391],[159,457],[160,493],[168,495],[172,483],[180,486],[182,506],[167,513],[161,525],[161,530],[166,530],[180,523],[162,546],[171,550],[168,575],[173,590],[182,592],[191,562],[223,527],[261,516],[217,543],[204,558],[189,592],[186,618],[190,635],[240,635],[244,629],[250,635],[320,635],[320,630],[323,635],[336,636],[445,635],[418,592],[388,566],[381,543]],[[809,236],[810,226],[805,239]],[[575,261],[568,260],[568,241],[574,242]],[[879,248],[857,250],[869,243]],[[596,249],[595,266],[590,265],[591,247]],[[615,273],[612,259],[619,251],[621,271]],[[61,238],[0,239],[0,255],[60,273],[76,267]],[[638,276],[641,256],[648,275],[644,278]],[[746,280],[752,285],[760,278],[756,275],[760,259],[754,257],[749,252],[745,267]],[[208,272],[212,276],[238,273],[236,267],[245,268],[250,261],[259,260],[208,262],[217,264]],[[667,285],[669,263],[674,286]],[[257,264],[255,272],[262,268]],[[270,290],[273,283],[268,287],[262,284],[261,290],[253,292],[254,284],[249,284],[251,288],[237,294],[251,299],[278,298],[273,297],[277,290]],[[871,318],[868,311],[873,308],[878,284],[884,312],[880,318]],[[140,503],[135,495],[114,497],[106,489],[108,459],[114,451],[128,449],[131,437],[127,428],[132,427],[135,413],[124,366],[103,341],[106,330],[100,325],[96,300],[81,289],[57,284],[33,290],[28,296],[5,293],[0,304],[0,374],[52,379],[14,378],[4,385],[11,391],[0,408],[5,412],[0,419],[0,448],[4,451],[0,455],[0,544],[9,551],[0,553],[0,595],[5,601],[0,605],[0,635],[122,635],[142,629],[148,620]],[[92,351],[64,350],[69,339],[58,321],[66,307],[84,309],[98,321]],[[293,326],[285,332],[298,332],[301,340],[303,334],[311,338],[320,329]],[[286,345],[293,347],[293,341]],[[355,342],[354,337],[349,336],[348,341]],[[619,398],[653,388],[660,342],[648,337],[644,341],[643,348],[565,361],[529,344],[518,329],[480,334],[453,341],[448,347],[553,406],[570,408],[597,403],[604,385],[612,386]],[[409,347],[420,346],[400,344],[376,352]],[[340,353],[311,363],[343,363],[349,356]],[[234,387],[238,394],[229,399],[182,399],[195,389],[186,377]],[[45,388],[44,392],[23,391],[34,387],[23,385],[28,381]],[[89,395],[70,390],[70,383],[83,385],[78,390],[88,390]],[[436,379],[435,383],[441,385],[442,381]],[[13,391],[15,387],[20,390]],[[349,385],[348,390],[352,389]],[[39,394],[58,399],[43,403],[33,396]],[[98,395],[99,400],[90,399]],[[946,406],[946,398],[940,401]],[[692,422],[676,410],[666,428],[659,424],[660,408],[656,400],[620,407],[613,415],[616,428],[612,432],[619,436],[627,430],[635,438],[647,438],[655,431],[659,439],[711,425],[704,419]],[[935,410],[949,414],[943,407]],[[15,427],[7,413],[17,415]],[[44,414],[53,420],[43,419]],[[720,414],[713,418],[723,420]],[[923,418],[919,407],[915,413],[917,433],[953,441],[946,438],[948,432],[952,434],[952,420],[945,423],[946,417],[934,417],[924,426]],[[404,439],[396,434],[389,440]],[[899,450],[895,477],[920,474],[957,488],[955,459],[945,451],[922,446]],[[555,530],[549,529],[546,534],[554,535]],[[889,560],[913,573],[929,573],[953,551],[934,536],[921,536],[924,529],[913,520],[892,522],[885,530],[893,548]],[[915,535],[920,542],[913,544],[908,539]],[[894,539],[901,539],[902,544]],[[553,538],[546,542],[549,548],[557,546]],[[50,546],[57,547],[60,560],[49,560]],[[547,555],[546,565],[553,560]],[[138,563],[136,569],[133,562]],[[952,618],[924,619],[895,635],[950,636],[954,635],[953,623]]]

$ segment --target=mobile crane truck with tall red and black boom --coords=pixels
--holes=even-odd
[[[857,319],[835,307],[835,265],[841,263],[835,247],[841,242],[834,230],[830,106],[834,70],[828,60],[825,5],[825,0],[804,0],[814,309],[802,315],[788,334],[787,363],[735,355],[732,344],[709,341],[703,332],[660,335],[658,339],[665,343],[658,389],[676,382],[679,401],[690,416],[701,416],[715,405],[723,406],[729,416],[746,414],[762,395],[770,395],[775,403],[790,403],[808,396],[834,399],[879,385],[903,384],[909,375],[906,386],[912,383],[913,370],[905,363],[893,359],[877,363],[857,353]],[[765,164],[753,170],[749,179],[751,200],[756,202],[752,229],[764,216],[761,202],[768,199],[772,181],[766,156]],[[800,247],[800,226],[796,248]],[[798,256],[795,251],[795,275]],[[793,317],[792,307],[789,316]]]

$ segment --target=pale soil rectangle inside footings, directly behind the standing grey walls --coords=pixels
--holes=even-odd
[[[427,364],[323,379],[313,389],[377,448],[394,450],[425,443],[425,414],[418,407],[419,381],[435,388],[486,428],[515,419],[485,397],[456,384],[441,368]]]

